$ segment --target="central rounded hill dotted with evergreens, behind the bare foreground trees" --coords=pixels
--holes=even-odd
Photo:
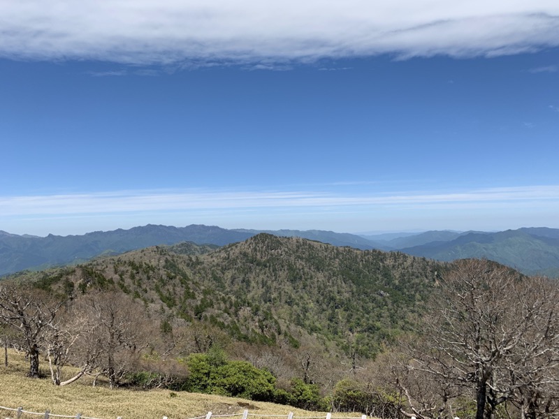
[[[48,289],[68,281],[71,289],[115,286],[234,341],[371,357],[412,327],[444,269],[403,253],[264,233],[199,256],[177,249],[151,247],[29,277]]]

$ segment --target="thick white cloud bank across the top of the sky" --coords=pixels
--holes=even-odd
[[[559,45],[556,0],[0,2],[0,55],[265,65],[393,53],[493,56]]]

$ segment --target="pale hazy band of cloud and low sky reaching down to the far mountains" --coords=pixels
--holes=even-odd
[[[324,189],[328,189],[324,186]],[[120,191],[0,198],[0,228],[83,234],[147,223],[335,231],[559,228],[559,185],[458,192]]]

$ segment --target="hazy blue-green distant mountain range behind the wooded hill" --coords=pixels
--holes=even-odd
[[[435,260],[488,258],[526,274],[559,277],[559,229],[520,228],[498,233],[427,231],[354,235],[324,230],[228,230],[217,226],[186,227],[147,225],[129,230],[96,231],[85,235],[36,237],[0,230],[0,275],[40,270],[56,265],[82,263],[102,255],[135,249],[193,242],[224,246],[259,233],[302,237],[337,247],[400,251]]]

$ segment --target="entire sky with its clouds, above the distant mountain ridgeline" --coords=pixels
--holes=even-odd
[[[0,230],[559,228],[559,6],[523,3],[2,4]]]

